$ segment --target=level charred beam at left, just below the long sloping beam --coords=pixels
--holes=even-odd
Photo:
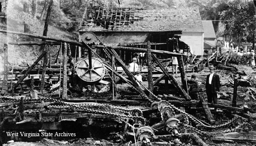
[[[53,41],[13,41],[8,42],[10,45],[61,45],[61,42],[53,42]]]

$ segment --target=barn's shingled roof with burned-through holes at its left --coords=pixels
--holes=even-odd
[[[204,32],[198,8],[88,8],[79,31]]]

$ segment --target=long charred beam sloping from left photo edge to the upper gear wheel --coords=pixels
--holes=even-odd
[[[35,38],[44,39],[44,40],[53,40],[53,41],[58,41],[58,42],[66,42],[66,43],[70,43],[70,44],[75,45],[75,46],[85,47],[85,45],[83,43],[79,43],[75,40],[66,40],[66,39],[59,39],[59,38],[54,38],[54,37],[46,37],[46,36],[42,36],[42,35],[22,33],[22,32],[17,32],[17,31],[0,30],[0,32],[9,33],[9,34],[26,35],[26,36],[29,36],[29,37],[35,37]]]

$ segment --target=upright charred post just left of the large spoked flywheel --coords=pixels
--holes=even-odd
[[[67,99],[67,43],[64,43],[63,50],[63,85],[62,99]]]

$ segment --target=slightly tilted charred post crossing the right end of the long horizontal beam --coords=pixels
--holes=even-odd
[[[180,52],[179,46],[178,46],[178,38],[175,40],[174,42],[174,49],[176,50],[176,52]],[[181,77],[181,82],[183,84],[183,89],[187,91],[187,84],[186,84],[186,73],[184,70],[184,65],[183,65],[183,59],[181,56],[177,57],[178,60],[178,66],[179,66],[179,70],[180,70],[180,77]]]

